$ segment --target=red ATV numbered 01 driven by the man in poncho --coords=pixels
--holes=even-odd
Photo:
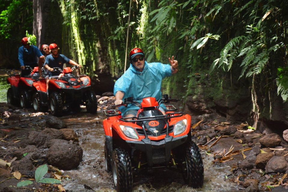
[[[108,172],[112,170],[117,191],[131,191],[133,173],[142,167],[163,166],[178,168],[189,186],[202,187],[204,167],[199,148],[191,140],[191,116],[175,112],[173,105],[166,106],[163,115],[159,106],[170,101],[180,100],[163,95],[158,102],[150,97],[140,104],[126,98],[121,105],[140,108],[132,118],[121,118],[118,110],[105,111],[105,165]]]

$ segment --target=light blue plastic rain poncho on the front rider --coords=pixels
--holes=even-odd
[[[142,99],[147,97],[154,97],[158,101],[162,98],[162,79],[171,76],[171,74],[169,64],[147,63],[145,61],[142,72],[135,70],[133,65],[130,64],[129,69],[116,81],[114,95],[117,91],[122,91],[124,93],[123,98],[133,97],[140,104]],[[164,104],[160,106],[166,110]],[[127,107],[119,107],[119,110],[123,115],[128,110],[139,110],[139,107],[129,104]]]

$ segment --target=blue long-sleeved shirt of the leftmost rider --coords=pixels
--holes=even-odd
[[[23,59],[24,51],[28,55],[34,54],[34,55],[32,55],[32,57],[34,57],[33,61],[24,61],[24,59]],[[40,56],[42,56],[42,53],[38,49],[38,47],[36,47],[35,45],[30,45],[30,47],[28,49],[26,49],[24,46],[21,46],[18,49],[18,60],[19,60],[20,66],[24,66],[24,65],[29,65],[30,66],[30,64],[37,63],[36,56],[39,58]]]

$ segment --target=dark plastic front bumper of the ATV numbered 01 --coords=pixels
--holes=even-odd
[[[149,138],[141,141],[126,141],[128,145],[143,152],[146,152],[148,166],[156,164],[168,164],[170,161],[171,150],[185,143],[187,135],[181,137],[166,136],[162,141],[151,141]]]

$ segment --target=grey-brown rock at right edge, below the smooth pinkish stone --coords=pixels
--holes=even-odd
[[[287,171],[288,162],[283,156],[274,156],[272,157],[266,167],[266,173],[285,173]]]

